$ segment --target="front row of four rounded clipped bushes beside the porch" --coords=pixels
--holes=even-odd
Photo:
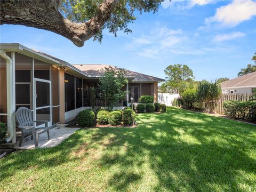
[[[110,124],[113,126],[124,123],[124,125],[132,125],[132,119],[135,118],[135,112],[126,107],[124,110],[106,111],[100,110],[97,114],[96,122],[100,125]],[[86,109],[77,115],[77,122],[81,126],[92,126],[95,124],[95,114],[92,110]]]

